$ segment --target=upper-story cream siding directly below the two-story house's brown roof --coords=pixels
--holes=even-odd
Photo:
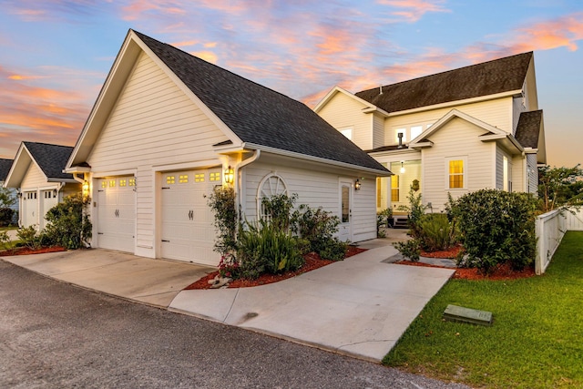
[[[453,108],[477,118],[491,126],[511,133],[512,127],[512,97],[498,98],[480,103],[464,104],[457,107],[446,107],[428,111],[399,115],[384,121],[384,145],[396,144],[394,128],[409,128],[421,123],[435,123]]]

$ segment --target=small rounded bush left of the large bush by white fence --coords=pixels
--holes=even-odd
[[[418,222],[419,240],[424,251],[446,250],[455,245],[455,225],[445,213],[426,213]]]

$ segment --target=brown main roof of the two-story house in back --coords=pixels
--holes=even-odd
[[[374,87],[355,96],[390,113],[520,90],[532,57],[532,51],[506,56],[381,88]]]

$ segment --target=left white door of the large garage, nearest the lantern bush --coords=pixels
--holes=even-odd
[[[97,247],[134,252],[135,188],[133,176],[97,179]]]

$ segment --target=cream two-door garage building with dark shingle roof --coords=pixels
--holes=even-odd
[[[93,247],[208,265],[215,186],[233,186],[247,220],[262,198],[297,193],[363,241],[375,179],[390,175],[302,103],[133,30],[66,171],[87,179]]]

